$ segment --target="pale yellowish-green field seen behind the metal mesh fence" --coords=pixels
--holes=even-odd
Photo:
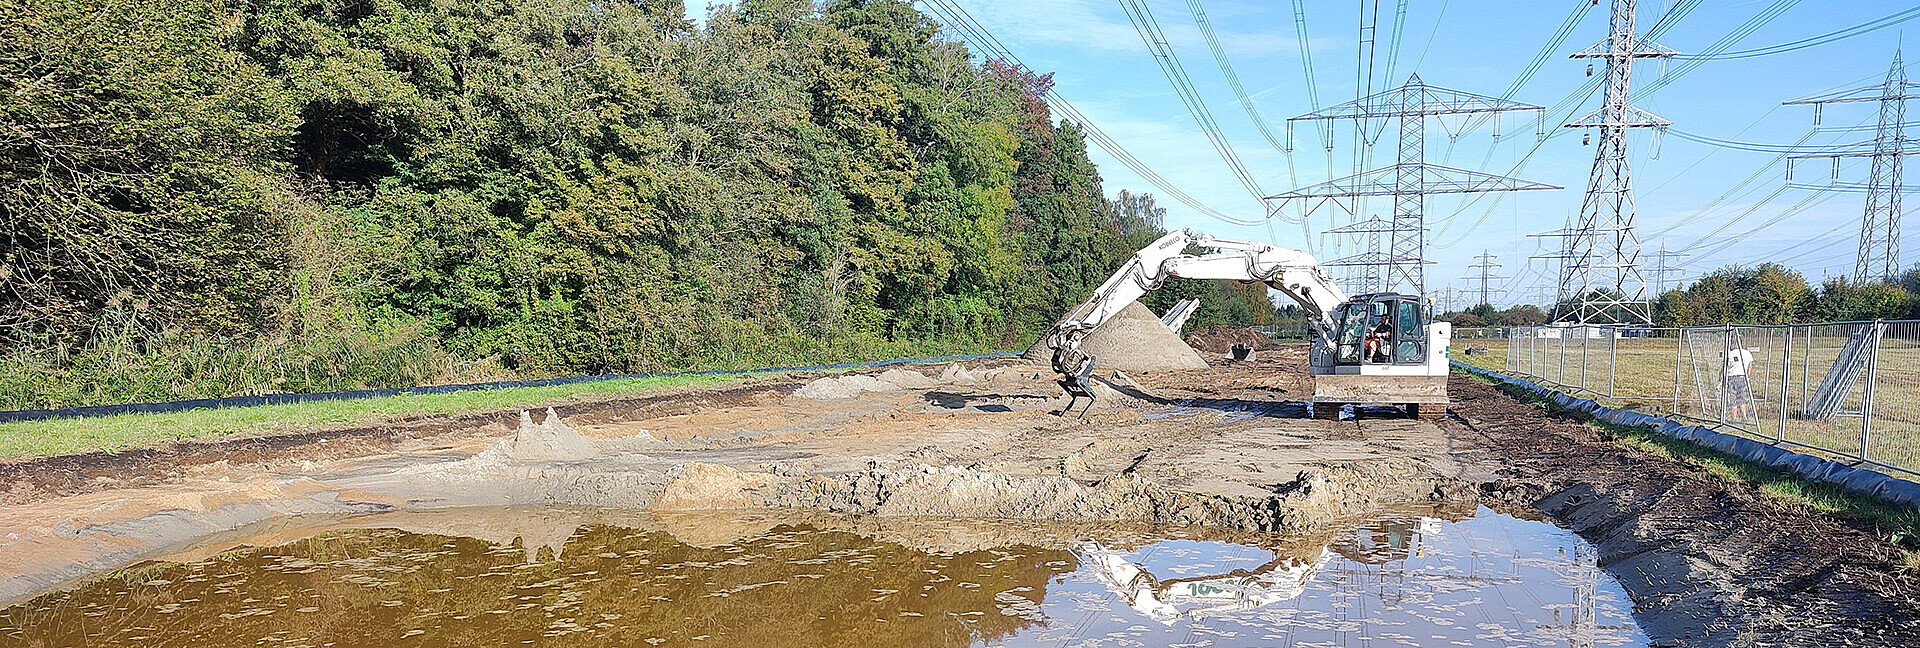
[[[1693,362],[1672,337],[1619,339],[1613,357],[1609,357],[1607,339],[1590,339],[1584,355],[1578,339],[1567,339],[1565,353],[1559,339],[1538,339],[1532,347],[1532,360],[1524,355],[1526,339],[1515,339],[1515,343],[1523,353],[1515,359],[1517,366],[1507,366],[1507,339],[1455,339],[1453,357],[1490,370],[1544,378],[1567,385],[1571,393],[1594,397],[1613,406],[1659,414],[1678,412],[1720,424],[1722,405],[1715,397],[1718,393],[1716,360]],[[1811,345],[1805,337],[1797,337],[1789,368],[1782,368],[1780,343],[1778,337],[1743,341],[1745,347],[1761,349],[1755,353],[1751,376],[1755,403],[1751,416],[1726,422],[1720,428],[1757,439],[1784,437],[1832,451],[1836,456],[1857,458],[1862,424],[1859,416],[1841,414],[1828,420],[1793,416],[1807,395],[1818,389],[1820,378],[1834,364],[1845,337],[1814,337]],[[1469,355],[1469,347],[1482,347],[1486,353]],[[1716,355],[1713,357],[1716,359]],[[1680,360],[1678,389],[1674,389],[1676,359]],[[1613,370],[1615,362],[1619,370]],[[1695,364],[1699,364],[1697,374]],[[1876,376],[1874,420],[1866,456],[1920,470],[1920,341],[1885,337]],[[1784,393],[1782,387],[1786,387]],[[1701,393],[1707,393],[1705,405]],[[1782,399],[1788,405],[1786,426],[1780,426]],[[1841,412],[1859,412],[1860,403],[1862,389],[1855,385],[1853,393],[1841,401]]]

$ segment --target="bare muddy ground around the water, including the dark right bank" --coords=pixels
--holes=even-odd
[[[1920,644],[1916,581],[1860,523],[1467,378],[1450,420],[1327,422],[1300,403],[1304,349],[1210,360],[1108,376],[1087,418],[1050,414],[1043,366],[1000,360],[0,464],[0,604],[303,514],[772,506],[1313,533],[1400,502],[1478,502],[1592,541],[1659,644]]]

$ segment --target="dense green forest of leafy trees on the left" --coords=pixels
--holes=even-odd
[[[900,0],[6,2],[0,408],[1018,349],[1162,215],[1050,84]]]

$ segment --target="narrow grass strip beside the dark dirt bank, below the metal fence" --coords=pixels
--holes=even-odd
[[[1615,426],[1594,420],[1592,416],[1561,408],[1538,393],[1478,374],[1467,376],[1494,385],[1515,399],[1540,405],[1555,412],[1578,416],[1588,426],[1605,431],[1620,445],[1695,466],[1728,483],[1751,487],[1782,506],[1866,521],[1876,537],[1901,546],[1907,552],[1903,564],[1907,569],[1920,571],[1920,512],[1905,510],[1874,497],[1849,493],[1832,483],[1812,481],[1793,472],[1755,464],[1734,454],[1693,445],[1686,439],[1674,439],[1653,431],[1651,428]]]

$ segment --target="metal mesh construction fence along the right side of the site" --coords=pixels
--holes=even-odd
[[[1920,475],[1920,320],[1517,326],[1455,359],[1611,406]]]

